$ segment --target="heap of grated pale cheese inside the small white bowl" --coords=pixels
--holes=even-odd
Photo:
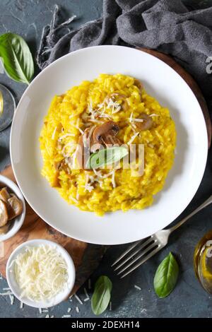
[[[49,245],[27,247],[12,262],[20,297],[35,302],[55,297],[67,285],[66,261]]]

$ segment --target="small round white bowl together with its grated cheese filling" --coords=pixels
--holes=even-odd
[[[21,250],[14,256],[11,254],[7,266],[8,284],[25,304],[39,307],[42,302],[45,304],[42,307],[51,307],[65,300],[71,292],[75,280],[73,261],[59,244],[47,240],[30,242],[35,245],[25,242],[20,245]]]

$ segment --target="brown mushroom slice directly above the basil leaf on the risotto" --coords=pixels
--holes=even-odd
[[[119,138],[117,134],[119,132],[119,126],[114,121],[107,121],[101,124],[93,131],[94,143],[103,143],[105,146],[109,144],[119,144]]]

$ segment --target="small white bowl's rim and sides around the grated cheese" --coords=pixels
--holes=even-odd
[[[55,297],[52,297],[49,300],[46,301],[40,301],[36,302],[33,300],[29,300],[27,297],[20,297],[20,287],[18,286],[15,278],[15,273],[14,273],[14,265],[12,264],[12,261],[16,259],[18,254],[23,252],[26,247],[36,247],[39,246],[40,244],[45,244],[45,245],[50,245],[52,247],[55,247],[61,256],[64,258],[67,264],[67,271],[69,274],[68,278],[68,287],[63,291],[59,292]],[[30,241],[24,242],[23,244],[20,244],[11,254],[9,257],[7,264],[6,264],[6,279],[8,282],[9,287],[11,288],[11,291],[13,294],[23,302],[24,304],[27,304],[30,307],[35,307],[35,308],[48,308],[48,307],[53,307],[56,304],[59,304],[60,302],[64,301],[69,297],[71,290],[73,289],[73,285],[75,283],[75,267],[73,264],[73,260],[71,259],[71,256],[69,253],[61,247],[60,244],[57,244],[56,242],[49,241],[47,239],[32,239]]]

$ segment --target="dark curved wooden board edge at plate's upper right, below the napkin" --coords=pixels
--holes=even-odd
[[[208,148],[210,148],[210,146],[211,146],[211,132],[212,132],[212,130],[211,130],[211,117],[210,117],[210,114],[208,112],[208,106],[206,104],[206,100],[204,98],[204,95],[201,93],[199,85],[197,85],[196,81],[194,81],[194,78],[189,73],[187,73],[187,71],[185,69],[183,69],[182,66],[177,64],[177,62],[172,57],[170,57],[169,55],[158,52],[158,51],[155,51],[154,49],[146,49],[146,48],[140,48],[140,49],[141,49],[141,51],[146,52],[148,54],[151,54],[154,57],[162,60],[163,62],[165,62],[165,64],[167,64],[172,69],[174,69],[174,71],[177,71],[179,76],[181,76],[184,79],[184,81],[186,81],[187,85],[189,85],[189,87],[192,89],[194,95],[196,96],[196,99],[199,102],[201,110],[204,114],[204,118],[205,118],[205,121],[206,121],[206,127],[207,127],[207,131],[208,131]]]

